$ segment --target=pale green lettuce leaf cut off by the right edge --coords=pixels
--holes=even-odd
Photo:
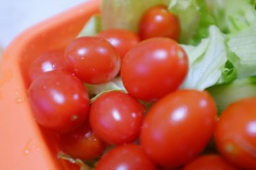
[[[229,60],[236,67],[238,77],[256,75],[256,17],[248,29],[230,36],[227,44],[233,52]]]

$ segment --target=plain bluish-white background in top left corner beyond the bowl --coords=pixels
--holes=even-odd
[[[0,0],[0,46],[29,26],[86,0]]]

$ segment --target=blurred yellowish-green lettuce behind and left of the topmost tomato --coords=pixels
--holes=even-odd
[[[102,29],[122,28],[137,32],[145,10],[156,4],[169,3],[170,0],[102,0]]]

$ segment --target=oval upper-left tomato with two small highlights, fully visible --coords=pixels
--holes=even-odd
[[[120,57],[105,39],[81,37],[65,50],[65,62],[74,74],[86,83],[106,83],[118,74]]]

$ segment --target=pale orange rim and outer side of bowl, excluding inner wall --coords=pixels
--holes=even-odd
[[[77,16],[91,15],[99,6],[100,0],[88,0],[47,18],[22,31],[4,50],[0,63],[1,169],[67,169],[52,159],[56,155],[52,155],[32,117],[19,57],[36,35]]]

